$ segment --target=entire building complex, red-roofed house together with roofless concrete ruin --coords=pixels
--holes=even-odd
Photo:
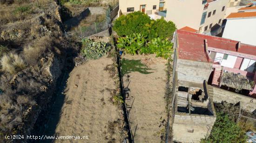
[[[256,46],[176,30],[174,50],[173,141],[199,143],[207,137],[216,120],[213,102],[256,110]]]

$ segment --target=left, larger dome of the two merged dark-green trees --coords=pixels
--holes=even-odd
[[[150,17],[142,12],[132,12],[128,15],[121,15],[115,20],[113,30],[123,37],[133,33],[141,33],[144,36],[149,34]]]

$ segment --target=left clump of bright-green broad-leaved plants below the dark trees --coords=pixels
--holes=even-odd
[[[117,47],[124,49],[129,54],[138,54],[141,48],[146,46],[146,37],[141,34],[133,34],[118,38]]]

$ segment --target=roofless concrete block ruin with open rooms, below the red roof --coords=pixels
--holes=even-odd
[[[179,48],[179,40],[182,39],[175,34],[172,136],[176,142],[198,143],[201,138],[209,135],[216,120],[212,102],[213,89],[206,81],[211,73],[212,63],[202,56],[194,56],[194,60],[188,60],[188,52]]]

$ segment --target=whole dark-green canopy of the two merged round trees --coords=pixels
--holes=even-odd
[[[149,40],[156,37],[161,39],[172,38],[176,26],[171,21],[163,18],[151,20],[147,14],[142,12],[132,12],[128,15],[121,15],[115,20],[113,30],[118,36],[123,37],[133,33],[141,33]]]

